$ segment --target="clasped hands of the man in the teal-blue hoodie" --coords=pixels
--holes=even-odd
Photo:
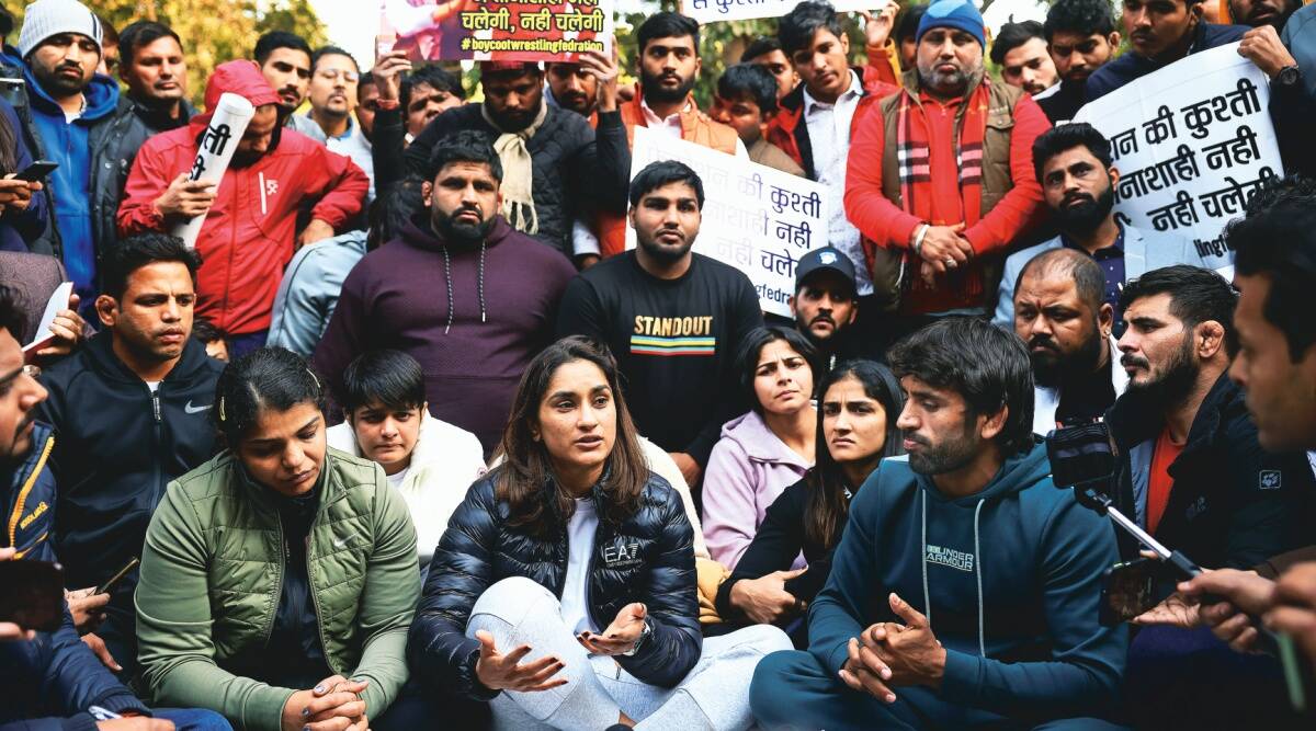
[[[850,653],[840,672],[841,681],[853,690],[883,703],[895,702],[892,688],[940,686],[946,669],[946,649],[932,634],[928,618],[895,593],[888,601],[904,625],[878,622],[850,638]]]

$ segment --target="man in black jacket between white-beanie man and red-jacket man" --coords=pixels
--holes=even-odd
[[[118,241],[114,217],[137,150],[151,135],[178,129],[196,113],[187,101],[183,45],[170,26],[145,20],[129,25],[118,34],[118,76],[128,93],[118,97],[109,131],[92,150],[91,206],[101,251]]]

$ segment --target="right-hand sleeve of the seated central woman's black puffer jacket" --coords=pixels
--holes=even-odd
[[[662,477],[650,477],[645,492],[646,498],[658,498],[653,509],[658,510],[661,521],[647,565],[646,607],[653,634],[633,657],[616,660],[628,673],[650,685],[675,688],[699,663],[704,642],[699,628],[695,529],[690,526],[680,496]]]

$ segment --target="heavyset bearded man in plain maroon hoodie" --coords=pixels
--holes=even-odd
[[[417,214],[351,270],[312,359],[337,392],[357,355],[409,354],[425,369],[430,412],[475,433],[486,455],[575,275],[562,254],[499,214],[501,181],[487,135],[458,131],[436,146],[422,187],[429,216]]]

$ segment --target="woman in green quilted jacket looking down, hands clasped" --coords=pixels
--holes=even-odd
[[[322,405],[283,348],[220,376],[211,413],[228,448],[168,485],[142,554],[139,657],[157,702],[251,731],[429,715],[403,692],[416,531],[379,465],[325,446]]]

